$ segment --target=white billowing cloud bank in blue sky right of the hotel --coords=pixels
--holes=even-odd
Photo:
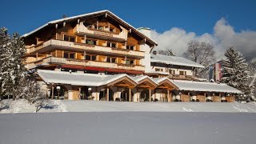
[[[234,27],[221,18],[214,26],[213,34],[197,35],[194,32],[187,33],[186,30],[173,27],[163,33],[156,30],[151,31],[151,38],[158,42],[156,50],[172,49],[175,54],[182,55],[187,50],[187,43],[191,40],[209,42],[214,45],[217,58],[224,58],[226,49],[235,46],[247,60],[256,57],[256,31],[242,30],[235,32]]]

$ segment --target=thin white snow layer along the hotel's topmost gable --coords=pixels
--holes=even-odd
[[[115,15],[114,13],[112,13],[110,10],[100,10],[100,11],[95,11],[95,12],[92,12],[92,13],[87,13],[87,14],[80,14],[80,15],[76,15],[76,16],[73,16],[73,17],[68,17],[68,18],[61,18],[61,19],[57,19],[57,20],[54,20],[54,21],[50,21],[50,22],[47,22],[46,24],[38,27],[37,29],[35,30],[32,30],[30,31],[29,33],[27,34],[23,34],[22,37],[27,37],[29,36],[30,34],[34,34],[35,32],[37,32],[38,30],[41,30],[42,28],[46,27],[46,26],[50,26],[50,25],[53,25],[53,24],[57,24],[58,22],[67,22],[67,21],[71,21],[71,20],[74,20],[74,19],[78,19],[78,18],[85,18],[87,16],[90,16],[90,15],[94,15],[94,14],[110,14],[112,16],[114,16],[115,18],[118,18],[118,20],[120,20],[122,23],[124,23],[126,26],[129,26],[131,30],[135,31],[137,34],[141,35],[143,38],[146,38],[146,40],[150,41],[150,42],[153,42],[154,45],[158,45],[157,42],[154,42],[153,39],[151,38],[148,38],[146,37],[145,34],[142,34],[139,30],[137,30],[136,28],[134,28],[134,26],[131,26],[128,22],[124,21],[122,18],[119,18],[117,15]]]

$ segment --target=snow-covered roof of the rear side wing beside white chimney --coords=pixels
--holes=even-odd
[[[167,55],[161,55],[161,54],[151,54],[150,61],[157,62],[157,63],[166,63],[170,65],[178,65],[178,66],[193,66],[193,67],[201,67],[201,68],[205,67],[198,64],[197,62],[190,61],[186,58],[182,58],[178,56],[167,56]]]

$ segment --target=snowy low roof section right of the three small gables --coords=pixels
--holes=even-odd
[[[211,92],[224,92],[224,93],[235,93],[241,94],[240,90],[234,87],[227,86],[223,83],[216,82],[194,82],[194,81],[182,81],[182,80],[171,80],[175,86],[178,86],[179,90],[190,90],[190,91],[211,91]]]

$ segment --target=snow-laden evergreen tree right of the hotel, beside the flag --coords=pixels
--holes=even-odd
[[[248,64],[242,54],[230,47],[224,54],[226,59],[222,60],[222,82],[241,90],[247,96],[250,95],[248,85],[249,71]]]

